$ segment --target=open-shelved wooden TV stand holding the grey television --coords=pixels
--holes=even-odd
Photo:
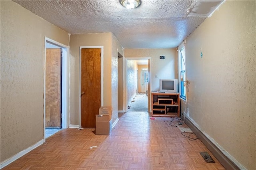
[[[152,91],[152,117],[180,117],[180,93]]]

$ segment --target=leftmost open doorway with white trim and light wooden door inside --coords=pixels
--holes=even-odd
[[[44,141],[68,127],[68,47],[45,39]]]

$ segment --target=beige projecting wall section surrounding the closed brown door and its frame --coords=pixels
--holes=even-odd
[[[112,33],[74,34],[70,36],[70,124],[79,125],[79,49],[80,46],[103,46],[103,103],[112,106],[112,121],[117,118],[118,51],[122,47]],[[114,94],[112,93],[115,92]],[[113,103],[116,101],[116,104]]]

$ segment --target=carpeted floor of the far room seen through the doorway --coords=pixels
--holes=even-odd
[[[148,96],[146,93],[138,93],[133,99],[128,111],[148,111]]]

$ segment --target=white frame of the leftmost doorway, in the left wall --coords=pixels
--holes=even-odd
[[[69,111],[69,46],[64,45],[62,43],[56,42],[50,38],[44,37],[44,142],[45,142],[45,127],[46,127],[46,102],[45,102],[45,94],[46,94],[46,44],[50,43],[52,45],[58,46],[62,48],[62,128],[68,128],[69,119],[68,119],[68,111]]]

